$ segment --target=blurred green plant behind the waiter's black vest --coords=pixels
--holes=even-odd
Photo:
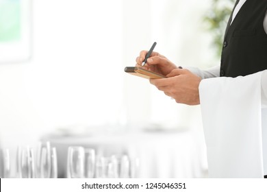
[[[229,16],[236,0],[212,0],[211,8],[204,16],[207,29],[213,36],[216,54],[220,56],[222,51],[223,36],[229,20]]]

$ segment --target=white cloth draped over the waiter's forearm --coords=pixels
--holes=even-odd
[[[264,72],[201,81],[199,93],[210,178],[263,178]]]

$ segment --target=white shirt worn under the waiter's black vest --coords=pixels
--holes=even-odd
[[[244,5],[245,2],[246,2],[246,0],[240,0],[238,2],[238,5],[236,5],[235,10],[233,10],[233,16],[232,16],[231,23],[236,18],[236,14],[238,14],[240,8],[242,8],[242,5]],[[266,16],[264,18],[263,26],[264,26],[264,30],[267,34],[267,12],[266,12]],[[210,77],[220,77],[220,65],[218,65],[216,67],[212,67],[211,69],[207,69],[205,71],[202,71],[202,70],[197,69],[197,68],[189,68],[189,70],[192,73],[199,75],[199,77],[201,77],[202,79],[206,79],[206,78],[210,78]],[[267,71],[264,71],[264,73],[262,74],[262,105],[263,105],[262,106],[263,108],[267,108]]]

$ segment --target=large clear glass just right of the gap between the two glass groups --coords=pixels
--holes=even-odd
[[[84,147],[69,147],[69,173],[71,178],[84,178]]]

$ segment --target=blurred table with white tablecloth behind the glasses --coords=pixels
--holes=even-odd
[[[98,132],[60,136],[49,134],[58,152],[58,177],[66,178],[69,146],[93,148],[99,156],[127,154],[139,159],[138,178],[205,178],[205,143],[192,131]]]

